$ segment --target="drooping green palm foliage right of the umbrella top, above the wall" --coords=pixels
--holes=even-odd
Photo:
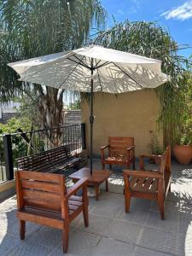
[[[96,33],[92,43],[162,61],[162,71],[172,79],[156,90],[161,108],[158,121],[166,142],[167,139],[169,143],[172,142],[177,135],[177,125],[181,122],[186,106],[183,91],[187,84],[184,73],[191,64],[191,61],[178,55],[178,51],[188,45],[178,45],[169,32],[156,22],[129,20],[115,23],[107,31]]]

